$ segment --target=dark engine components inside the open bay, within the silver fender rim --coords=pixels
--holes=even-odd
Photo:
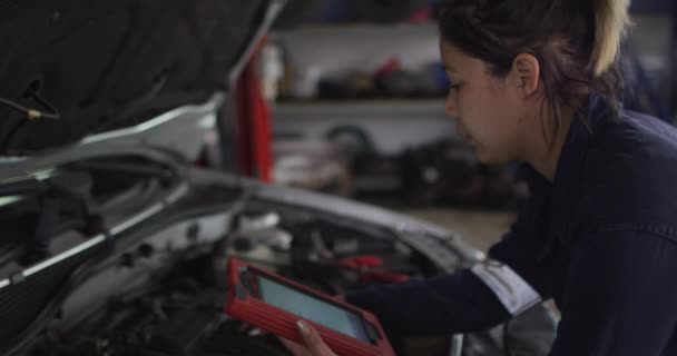
[[[144,266],[144,258],[158,254],[171,254],[164,259],[171,266],[148,263],[150,283],[108,296],[76,323],[57,317],[28,355],[286,355],[274,337],[251,335],[224,315],[224,268],[232,256],[327,294],[430,273],[431,266],[416,263],[420,256],[394,239],[303,214],[295,219],[282,222],[278,214],[253,207],[233,220],[226,239],[196,240],[173,253],[148,243],[135,247],[136,256],[124,254],[110,268]],[[195,226],[188,235],[198,234]]]

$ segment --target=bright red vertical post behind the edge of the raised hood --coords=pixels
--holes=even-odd
[[[271,181],[273,154],[271,144],[271,116],[268,103],[261,91],[258,62],[261,48],[242,71],[236,83],[237,107],[237,160],[243,175]]]

